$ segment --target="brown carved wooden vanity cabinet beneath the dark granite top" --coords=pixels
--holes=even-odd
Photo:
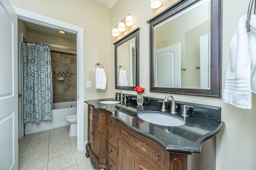
[[[201,154],[168,152],[88,105],[86,157],[99,170],[215,170],[216,137],[202,145]]]

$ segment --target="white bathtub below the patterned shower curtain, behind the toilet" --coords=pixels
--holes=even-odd
[[[76,101],[53,103],[52,104],[52,120],[40,121],[39,123],[36,123],[36,122],[26,123],[24,125],[25,135],[69,125],[69,123],[65,120],[65,116],[70,113],[76,112],[77,110],[76,106],[77,106]]]

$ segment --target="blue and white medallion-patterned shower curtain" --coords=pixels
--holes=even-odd
[[[24,123],[52,119],[52,67],[50,46],[24,42]]]

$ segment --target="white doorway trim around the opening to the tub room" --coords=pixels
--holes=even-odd
[[[84,141],[84,28],[14,7],[18,20],[76,34],[77,55],[77,150],[85,150]]]

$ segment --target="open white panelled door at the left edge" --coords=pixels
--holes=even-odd
[[[17,15],[0,0],[0,169],[18,169]]]

